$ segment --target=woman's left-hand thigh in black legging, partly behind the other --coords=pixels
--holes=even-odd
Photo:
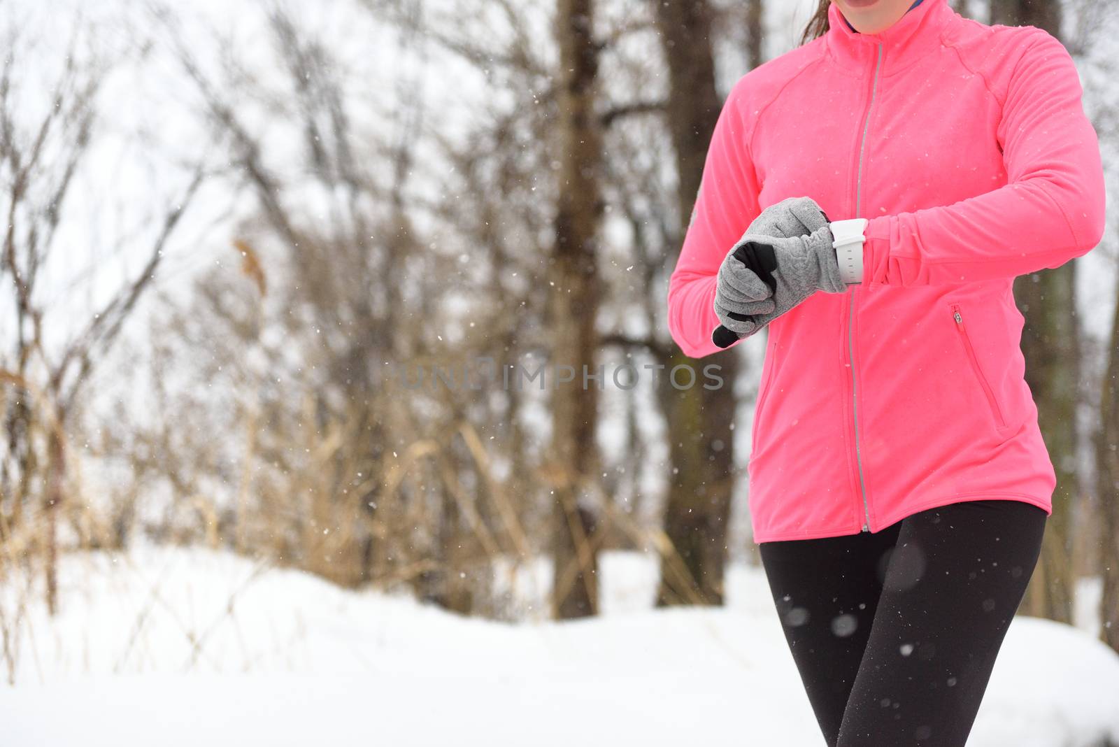
[[[839,734],[899,527],[758,546],[781,627],[828,745]]]

